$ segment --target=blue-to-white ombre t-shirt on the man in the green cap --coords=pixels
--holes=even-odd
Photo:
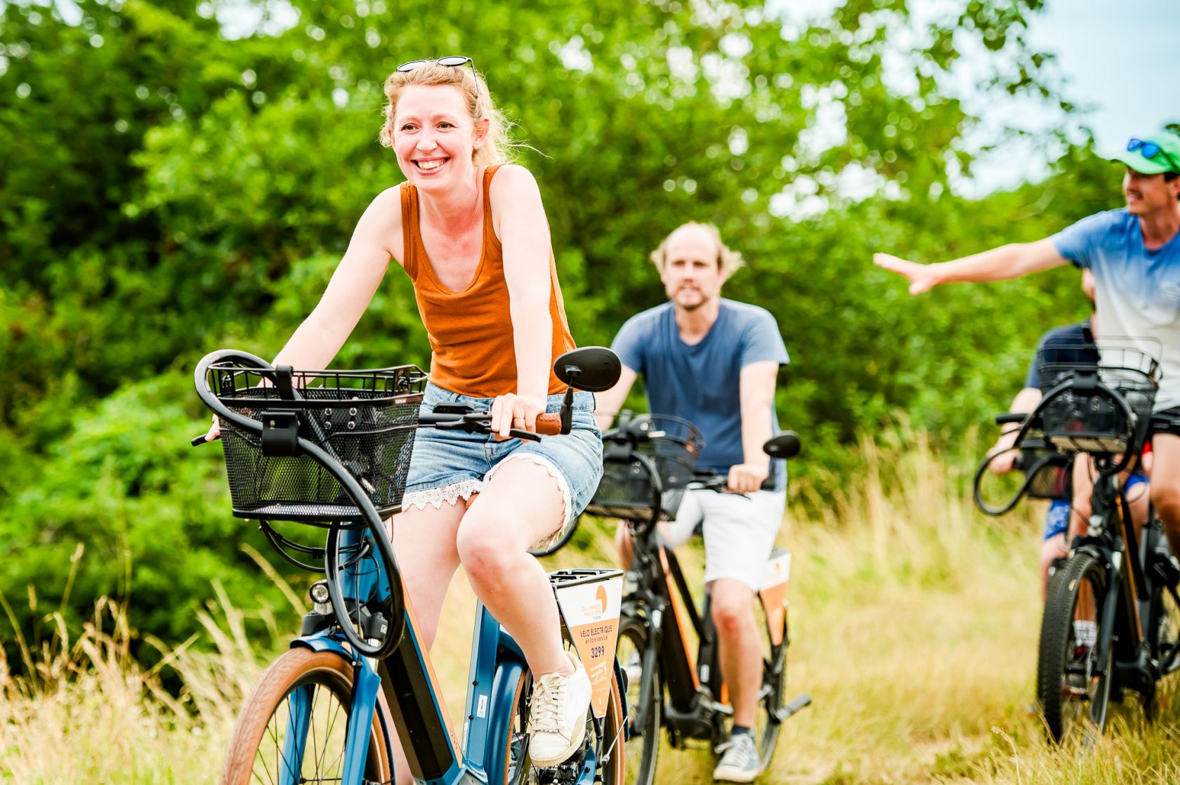
[[[1139,217],[1122,208],[1082,218],[1050,241],[1094,272],[1099,346],[1132,339],[1130,346],[1160,360],[1156,411],[1180,406],[1180,234],[1149,250]]]

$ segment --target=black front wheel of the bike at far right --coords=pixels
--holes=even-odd
[[[1084,726],[1082,740],[1092,744],[1106,726],[1114,647],[1099,662],[1096,641],[1108,623],[1101,617],[1107,577],[1092,554],[1080,552],[1049,584],[1037,655],[1037,700],[1049,737],[1057,743]]]

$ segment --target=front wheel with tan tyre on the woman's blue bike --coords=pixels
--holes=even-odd
[[[333,652],[294,648],[284,653],[245,699],[225,753],[222,785],[339,783],[352,698],[352,662]],[[302,726],[302,733],[293,735],[295,725]],[[375,713],[366,785],[393,781],[392,744]]]

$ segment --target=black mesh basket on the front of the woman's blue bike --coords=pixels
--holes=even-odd
[[[209,368],[209,387],[230,411],[260,423],[290,413],[300,437],[339,460],[382,516],[401,509],[426,384],[414,366],[378,371],[295,371],[294,400],[267,384],[273,373],[232,362]],[[291,393],[288,393],[291,394]],[[222,423],[234,515],[276,521],[356,521],[361,511],[308,454],[264,454],[262,437]],[[271,451],[273,452],[273,451]]]

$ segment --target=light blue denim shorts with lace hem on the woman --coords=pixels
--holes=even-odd
[[[564,395],[550,395],[546,412],[562,408]],[[463,404],[476,412],[491,408],[491,398],[472,398],[426,385],[419,411],[433,413],[440,404]],[[524,439],[497,440],[490,433],[465,433],[420,427],[414,437],[414,453],[409,462],[402,506],[419,510],[430,504],[441,509],[442,503],[455,504],[470,499],[507,458],[524,458],[543,466],[557,480],[564,503],[564,521],[555,521],[555,531],[548,539],[556,542],[576,518],[602,479],[602,434],[594,418],[594,393],[573,394],[573,429],[568,436],[546,436],[540,441]]]

